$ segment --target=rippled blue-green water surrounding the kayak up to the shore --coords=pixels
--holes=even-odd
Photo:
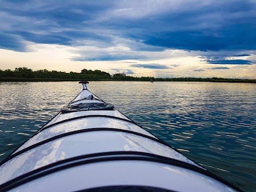
[[[90,87],[185,156],[256,191],[256,84],[90,82]],[[0,83],[0,161],[80,88],[77,82]]]

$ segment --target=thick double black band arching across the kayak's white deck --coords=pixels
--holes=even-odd
[[[119,155],[119,156],[118,156]],[[133,156],[131,156],[133,155]],[[134,156],[136,155],[136,156]],[[102,157],[105,156],[105,157]],[[108,157],[106,157],[108,156]],[[112,157],[111,157],[112,156]],[[94,157],[94,158],[93,158]],[[86,159],[86,158],[93,158],[93,159]],[[156,162],[156,163],[164,163],[172,166],[177,166],[183,169],[195,171],[197,173],[201,173],[206,175],[207,177],[213,178],[235,190],[241,191],[241,189],[231,185],[227,181],[223,180],[222,178],[218,177],[217,175],[212,174],[209,171],[201,169],[195,165],[191,165],[189,163],[185,163],[179,161],[177,159],[172,159],[169,157],[163,157],[155,154],[148,154],[139,151],[112,151],[112,152],[104,152],[104,153],[97,153],[97,154],[89,154],[89,155],[81,155],[76,157],[71,157],[59,162],[55,162],[44,167],[41,167],[37,170],[33,170],[29,173],[25,173],[20,175],[17,178],[14,178],[10,181],[3,183],[0,186],[0,191],[6,191],[23,185],[29,181],[44,177],[45,175],[69,169],[71,167],[85,165],[90,163],[97,163],[97,162],[108,162],[108,161],[148,161],[148,162]]]

